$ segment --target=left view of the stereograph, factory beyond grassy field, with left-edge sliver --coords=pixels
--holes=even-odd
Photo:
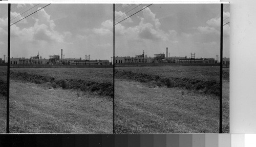
[[[10,20],[10,133],[112,133],[113,5],[11,4]]]

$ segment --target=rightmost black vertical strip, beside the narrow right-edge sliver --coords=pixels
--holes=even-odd
[[[222,133],[222,62],[223,62],[223,4],[221,4],[220,133]]]

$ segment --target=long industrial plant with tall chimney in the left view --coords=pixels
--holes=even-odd
[[[25,57],[11,57],[10,65],[112,65],[109,60],[90,60],[90,55],[86,55],[86,59],[82,58],[65,58],[63,50],[61,49],[61,54],[59,55],[49,55],[49,58],[42,58],[39,56],[39,52],[36,56],[31,56],[30,58]]]

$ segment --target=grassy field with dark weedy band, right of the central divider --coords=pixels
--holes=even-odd
[[[219,132],[219,67],[115,70],[116,133]],[[223,129],[228,132],[228,70],[223,78]]]

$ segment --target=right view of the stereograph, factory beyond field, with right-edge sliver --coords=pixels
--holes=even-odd
[[[116,133],[219,133],[221,64],[229,132],[229,15],[220,63],[220,4],[115,5]]]

